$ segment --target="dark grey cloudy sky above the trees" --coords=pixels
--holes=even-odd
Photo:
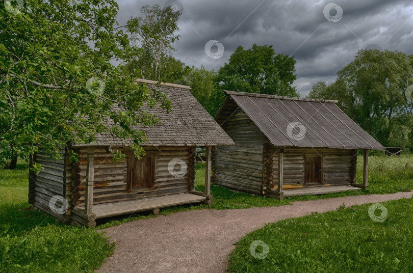
[[[305,97],[319,80],[332,83],[357,50],[371,44],[413,54],[411,0],[118,0],[119,24],[142,6],[174,3],[183,8],[174,57],[186,65],[219,69],[237,46],[272,44],[294,56],[297,86]],[[330,4],[330,5],[328,5]],[[335,4],[335,5],[333,5]],[[205,53],[205,44],[216,40]],[[216,43],[216,42],[215,42]],[[209,43],[209,44],[212,44]],[[223,49],[221,52],[217,50]],[[221,50],[222,51],[222,50]],[[211,54],[212,52],[212,54]]]

